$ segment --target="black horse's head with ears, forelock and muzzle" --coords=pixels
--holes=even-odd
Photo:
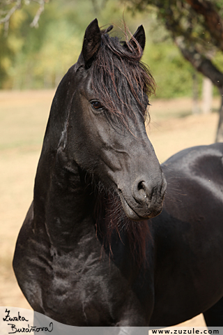
[[[167,186],[144,124],[155,82],[140,61],[144,28],[125,41],[111,30],[100,30],[97,19],[89,24],[79,59],[59,85],[52,109],[60,110],[61,91],[69,103],[57,142],[70,166],[118,194],[126,216],[140,221],[160,214]]]

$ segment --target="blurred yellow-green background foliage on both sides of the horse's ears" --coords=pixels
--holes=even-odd
[[[141,1],[142,2],[142,1]],[[151,68],[157,82],[158,98],[190,96],[192,66],[183,59],[178,48],[157,16],[144,6],[144,12],[128,10],[119,0],[52,0],[45,5],[38,29],[30,23],[35,6],[24,6],[10,20],[8,36],[0,26],[0,88],[36,89],[55,87],[68,68],[77,61],[82,49],[84,31],[95,17],[100,26],[122,26],[123,13],[130,31],[139,24],[146,29],[143,61]],[[118,27],[115,34],[121,34]]]

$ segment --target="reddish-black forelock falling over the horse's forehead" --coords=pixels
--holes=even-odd
[[[136,38],[128,40],[126,33],[125,41],[111,37],[108,33],[112,28],[101,31],[101,45],[91,64],[92,86],[107,116],[128,126],[128,118],[134,117],[133,107],[138,107],[145,119],[155,80],[141,62],[143,49]]]

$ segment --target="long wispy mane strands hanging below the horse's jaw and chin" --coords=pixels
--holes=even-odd
[[[95,190],[93,211],[96,234],[102,240],[102,248],[113,258],[112,242],[118,240],[129,248],[132,260],[138,267],[146,265],[146,245],[151,241],[148,220],[132,221],[123,210],[118,194],[100,184]]]

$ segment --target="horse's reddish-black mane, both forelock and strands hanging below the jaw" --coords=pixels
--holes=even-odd
[[[91,63],[92,86],[107,117],[128,128],[128,119],[134,118],[134,108],[145,120],[148,96],[155,93],[155,80],[148,66],[141,62],[143,49],[134,36],[125,41],[109,36],[113,26],[102,30],[102,41]],[[126,31],[126,27],[125,27]],[[139,265],[146,262],[146,243],[151,234],[148,221],[131,221],[123,211],[117,193],[105,189],[96,191],[95,226],[102,246],[112,253],[112,241],[128,243],[132,259]],[[127,238],[123,241],[122,237]]]

